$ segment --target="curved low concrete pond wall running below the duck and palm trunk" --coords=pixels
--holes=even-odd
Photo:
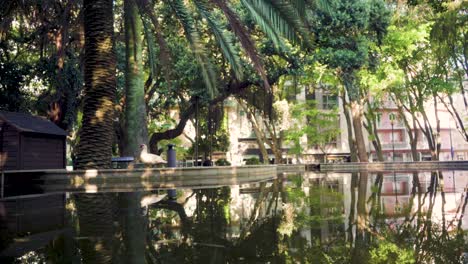
[[[275,165],[239,167],[106,169],[83,171],[4,172],[6,178],[34,178],[42,192],[126,192],[135,190],[208,188],[275,179]],[[16,186],[15,188],[18,188]]]

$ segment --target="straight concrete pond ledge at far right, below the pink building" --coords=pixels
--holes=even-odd
[[[321,172],[468,170],[468,161],[321,163]]]

